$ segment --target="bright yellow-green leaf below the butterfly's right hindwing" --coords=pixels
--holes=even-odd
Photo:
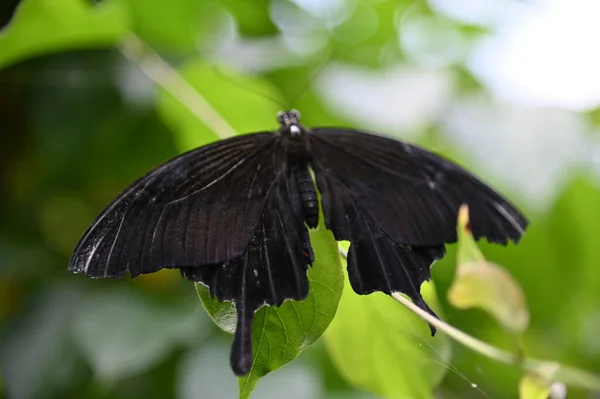
[[[433,283],[421,291],[439,313]],[[451,355],[445,335],[432,337],[427,323],[387,295],[357,295],[347,280],[325,340],[348,382],[384,398],[433,398]]]

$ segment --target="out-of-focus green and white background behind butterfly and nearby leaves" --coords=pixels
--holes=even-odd
[[[274,96],[307,126],[380,132],[476,171],[531,221],[518,246],[482,245],[525,291],[528,354],[600,371],[595,2],[33,0],[23,3],[37,8],[22,4],[23,18],[9,24],[17,3],[0,2],[7,398],[237,395],[231,338],[178,272],[92,281],[66,271],[87,225],[127,184],[217,138],[172,110],[144,59],[123,56],[131,31],[186,76],[207,65],[232,71],[231,93],[198,85],[239,132],[276,127]],[[445,319],[513,348],[488,315],[447,303],[454,267],[451,248],[433,268]],[[443,366],[436,397],[517,395],[519,370],[458,345]],[[254,397],[284,394],[374,397],[340,377],[322,340]],[[569,389],[569,398],[592,397]]]

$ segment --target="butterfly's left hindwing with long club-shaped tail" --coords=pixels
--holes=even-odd
[[[287,166],[278,164],[280,175],[243,254],[208,267],[181,269],[184,277],[207,285],[219,301],[235,303],[238,321],[231,368],[237,375],[247,374],[252,364],[251,327],[256,310],[308,295],[306,272],[314,256],[300,195]]]

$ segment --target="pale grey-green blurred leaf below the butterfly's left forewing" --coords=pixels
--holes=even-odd
[[[112,384],[139,374],[200,334],[202,318],[190,308],[152,304],[130,290],[86,297],[74,338],[100,381]]]

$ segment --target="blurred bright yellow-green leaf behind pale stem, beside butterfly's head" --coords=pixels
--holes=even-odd
[[[281,106],[269,99],[279,99],[277,90],[266,79],[219,71],[200,60],[189,62],[179,70],[218,115],[194,114],[181,103],[181,100],[190,100],[187,96],[178,93],[176,98],[164,89],[158,92],[158,110],[176,132],[182,150],[219,137],[220,132],[206,125],[207,118],[222,118],[238,134],[277,129],[276,115]]]

